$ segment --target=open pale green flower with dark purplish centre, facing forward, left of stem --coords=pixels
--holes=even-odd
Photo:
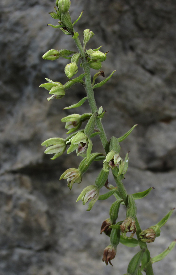
[[[70,147],[67,150],[67,154],[76,150],[77,155],[79,156],[80,153],[83,153],[86,150],[88,145],[88,138],[86,134],[79,132],[75,134],[72,138],[69,139],[66,143],[71,142]]]

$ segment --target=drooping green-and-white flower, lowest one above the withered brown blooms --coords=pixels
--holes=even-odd
[[[91,200],[89,203],[87,211],[90,211],[98,200],[99,197],[99,189],[95,185],[89,185],[81,192],[76,201],[82,200],[82,204],[84,205],[88,200]]]

